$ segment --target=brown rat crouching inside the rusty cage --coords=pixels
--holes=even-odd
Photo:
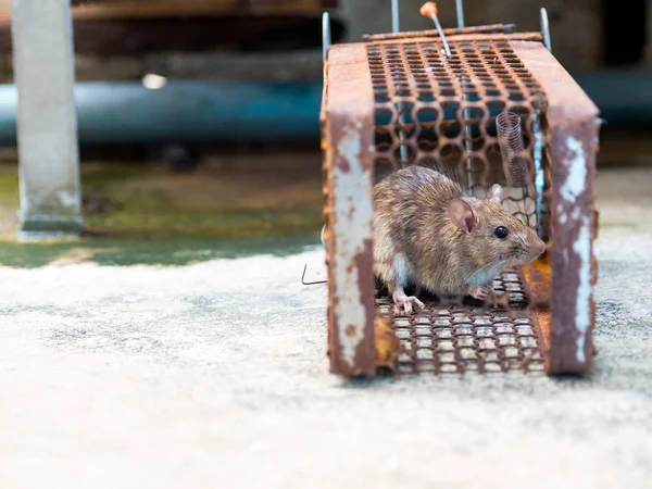
[[[405,287],[437,296],[472,296],[498,304],[492,283],[506,266],[538,259],[546,243],[502,208],[502,187],[488,199],[425,166],[409,166],[374,187],[374,273],[410,315],[424,309]]]

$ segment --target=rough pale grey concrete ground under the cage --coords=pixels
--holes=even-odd
[[[334,378],[321,250],[3,268],[0,487],[650,487],[651,181],[601,176],[585,380]]]

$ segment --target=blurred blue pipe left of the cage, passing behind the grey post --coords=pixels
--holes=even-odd
[[[82,143],[290,140],[319,134],[321,83],[75,86]],[[0,146],[16,143],[16,90],[0,85]]]

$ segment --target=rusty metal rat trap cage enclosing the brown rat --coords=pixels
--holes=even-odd
[[[443,37],[442,37],[443,35]],[[598,110],[540,33],[511,26],[365,36],[330,46],[322,135],[330,371],[593,371]],[[405,165],[447,166],[548,251],[494,280],[503,305],[419,297],[396,314],[373,272],[373,187]]]

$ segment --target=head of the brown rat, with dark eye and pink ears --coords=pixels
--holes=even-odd
[[[465,254],[478,266],[499,262],[525,265],[546,251],[546,243],[534,229],[504,211],[500,185],[491,188],[487,200],[454,199],[448,215],[463,234]]]

